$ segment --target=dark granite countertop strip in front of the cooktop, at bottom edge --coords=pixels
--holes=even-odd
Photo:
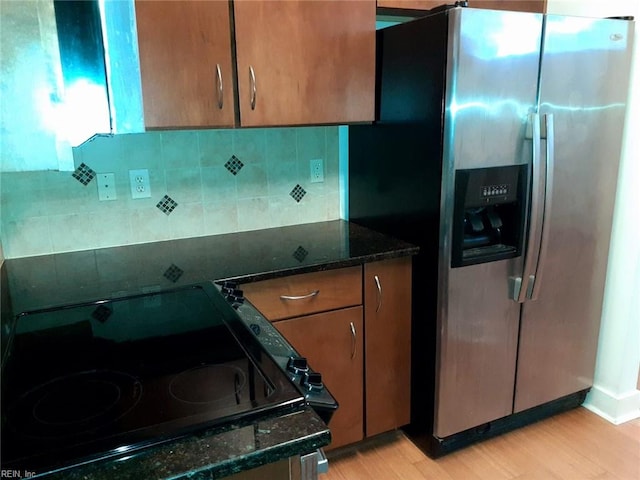
[[[48,480],[211,480],[328,445],[330,433],[311,408],[236,422],[141,450],[63,470]]]

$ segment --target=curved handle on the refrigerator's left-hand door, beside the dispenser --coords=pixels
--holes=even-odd
[[[529,129],[527,138],[532,140],[531,148],[533,153],[532,159],[532,179],[531,179],[531,205],[529,215],[529,235],[527,236],[527,244],[524,252],[524,266],[520,276],[511,277],[510,290],[511,298],[518,303],[524,303],[532,293],[533,283],[535,281],[535,268],[538,263],[538,253],[540,251],[540,230],[541,230],[541,180],[543,178],[542,162],[540,160],[540,115],[532,113],[529,116]],[[528,293],[528,294],[527,294]]]

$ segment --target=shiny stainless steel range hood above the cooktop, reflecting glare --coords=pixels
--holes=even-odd
[[[144,131],[133,0],[0,10],[0,171],[73,170],[71,147]]]

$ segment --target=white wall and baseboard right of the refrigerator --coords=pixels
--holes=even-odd
[[[633,15],[640,18],[640,0],[548,0],[550,13],[594,17]],[[632,88],[616,209],[613,218],[609,268],[598,345],[594,387],[585,406],[614,423],[640,416],[640,29],[636,24]],[[612,78],[612,81],[616,79]],[[634,89],[633,86],[636,88]]]

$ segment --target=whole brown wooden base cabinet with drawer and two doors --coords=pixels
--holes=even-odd
[[[411,257],[242,286],[323,376],[339,408],[336,448],[406,425],[411,388]]]

